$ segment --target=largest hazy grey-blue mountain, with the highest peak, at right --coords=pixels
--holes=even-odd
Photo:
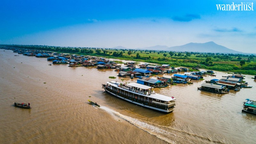
[[[188,43],[180,46],[172,46],[167,48],[166,50],[180,51],[180,52],[243,53],[243,52],[231,50],[219,44],[215,44],[214,42]]]

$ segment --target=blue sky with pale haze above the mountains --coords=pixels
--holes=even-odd
[[[255,2],[255,10],[217,10],[232,2]],[[256,53],[255,14],[255,0],[2,0],[0,44],[143,48],[213,41]]]

